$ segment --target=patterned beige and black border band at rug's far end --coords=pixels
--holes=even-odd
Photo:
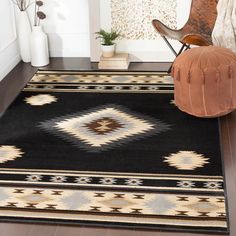
[[[38,72],[25,91],[96,93],[172,93],[173,79],[167,73]]]

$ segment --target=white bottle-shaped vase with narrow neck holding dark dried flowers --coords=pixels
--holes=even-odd
[[[40,67],[49,64],[48,38],[41,26],[33,26],[30,49],[32,66]]]

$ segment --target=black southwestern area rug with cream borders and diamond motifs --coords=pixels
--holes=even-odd
[[[228,233],[217,119],[160,74],[41,72],[0,119],[0,218]]]

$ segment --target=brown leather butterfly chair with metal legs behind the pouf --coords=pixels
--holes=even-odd
[[[152,24],[177,57],[189,49],[190,45],[212,45],[211,34],[217,17],[217,3],[218,0],[192,0],[189,19],[181,29],[171,29],[157,19],[154,19]],[[168,38],[182,43],[179,52],[174,49]]]

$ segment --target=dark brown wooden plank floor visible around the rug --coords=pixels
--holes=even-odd
[[[87,59],[86,59],[87,60]],[[78,59],[60,59],[52,61],[51,65],[44,69],[82,69],[83,66],[89,67],[89,62]],[[70,63],[73,62],[73,63]],[[80,62],[80,64],[78,63]],[[78,63],[78,64],[76,64]],[[84,63],[84,64],[83,64]],[[83,66],[81,65],[83,64]],[[81,68],[82,66],[82,68]],[[93,64],[94,66],[94,64]],[[168,68],[168,64],[150,63],[134,65],[136,71],[150,70],[155,71],[155,68],[164,66]],[[90,68],[91,69],[91,68]],[[89,70],[86,68],[85,70]],[[96,70],[96,65],[92,70]],[[15,70],[0,83],[0,109],[6,108],[7,105],[19,93],[36,69],[29,65],[20,63]],[[10,83],[8,83],[10,81]],[[4,97],[6,96],[6,97]],[[3,98],[3,99],[2,99]],[[0,110],[1,111],[1,110]],[[222,155],[224,159],[230,228],[231,236],[236,236],[236,111],[222,117],[221,119],[221,138],[222,138]],[[71,227],[59,225],[37,225],[37,224],[14,224],[0,223],[0,236],[205,236],[205,234],[193,233],[171,233],[159,231],[144,231],[134,229],[112,229],[112,228],[94,228],[94,227]],[[211,234],[213,235],[213,234]]]

